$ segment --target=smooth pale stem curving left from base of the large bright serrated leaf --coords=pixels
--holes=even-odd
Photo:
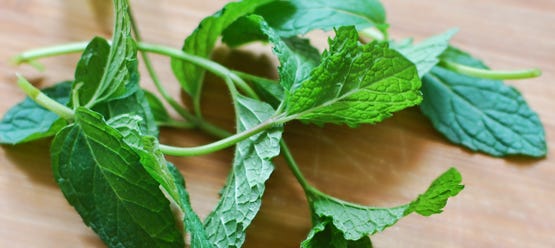
[[[168,146],[168,145],[160,145],[160,150],[164,154],[171,155],[171,156],[198,156],[198,155],[209,154],[215,151],[228,148],[238,142],[241,142],[273,126],[274,126],[274,121],[272,118],[270,118],[265,122],[262,122],[259,125],[249,130],[234,134],[232,136],[229,136],[225,139],[221,139],[214,143],[210,143],[203,146],[196,146],[196,147],[174,147],[174,146]]]

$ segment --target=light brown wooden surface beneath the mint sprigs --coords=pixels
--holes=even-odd
[[[145,40],[179,47],[198,21],[226,1],[132,1]],[[0,114],[22,100],[15,72],[39,86],[71,79],[78,56],[45,59],[46,71],[15,67],[8,59],[27,49],[109,36],[110,18],[101,1],[0,0]],[[522,91],[545,125],[555,147],[555,1],[553,0],[387,0],[393,37],[421,39],[459,27],[454,43],[493,68],[537,66],[539,79],[509,82]],[[317,33],[316,37],[321,37]],[[316,42],[320,47],[324,39]],[[255,54],[221,48],[228,65],[275,76],[268,49]],[[179,96],[168,60],[154,57],[163,81]],[[143,70],[144,71],[144,70]],[[152,85],[145,73],[145,87]],[[208,81],[214,81],[212,77]],[[209,82],[207,116],[233,127],[221,82]],[[161,141],[200,145],[212,141],[192,132],[163,130]],[[376,247],[555,247],[555,158],[498,159],[449,144],[417,109],[382,124],[349,129],[291,123],[285,139],[302,171],[324,192],[367,205],[394,206],[413,199],[450,166],[466,189],[445,212],[430,218],[411,215],[373,237]],[[0,148],[0,247],[103,247],[55,184],[49,141]],[[171,158],[188,180],[202,217],[218,200],[232,150],[193,158]],[[297,247],[310,219],[303,193],[282,159],[268,182],[260,214],[245,247]]]

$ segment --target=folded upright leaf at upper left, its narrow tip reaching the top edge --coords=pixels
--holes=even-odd
[[[79,106],[127,97],[137,89],[128,85],[137,74],[137,45],[131,37],[126,0],[114,0],[115,26],[110,47],[106,40],[94,38],[87,46],[75,71],[74,90]]]

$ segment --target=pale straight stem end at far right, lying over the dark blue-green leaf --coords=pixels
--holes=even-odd
[[[440,65],[449,70],[458,72],[463,75],[485,78],[485,79],[494,79],[494,80],[535,78],[535,77],[541,76],[542,74],[541,70],[537,68],[515,70],[515,71],[494,71],[494,70],[480,69],[480,68],[470,67],[466,65],[461,65],[459,63],[455,63],[447,60],[442,60],[440,62]]]

